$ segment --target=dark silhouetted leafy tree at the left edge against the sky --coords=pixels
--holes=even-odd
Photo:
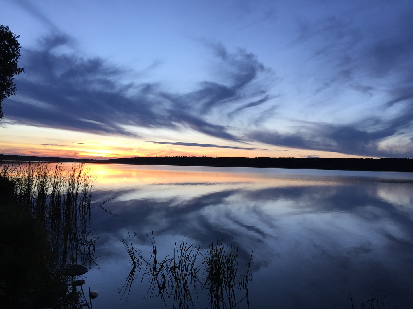
[[[19,35],[9,30],[9,26],[0,25],[0,119],[3,119],[1,103],[4,98],[16,95],[13,76],[24,72],[17,66],[20,58]]]

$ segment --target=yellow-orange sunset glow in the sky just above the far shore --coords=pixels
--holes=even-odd
[[[12,132],[13,134],[9,134]],[[112,159],[122,157],[362,157],[337,152],[303,150],[266,144],[229,143],[205,137],[201,143],[221,147],[201,147],[158,144],[124,136],[102,136],[85,132],[37,128],[6,124],[0,126],[0,153],[44,157],[69,157],[78,159]],[[188,136],[185,136],[188,138]],[[147,137],[160,140],[165,137]],[[197,140],[196,140],[197,141]],[[190,141],[192,142],[192,140]],[[240,147],[251,150],[225,148]]]

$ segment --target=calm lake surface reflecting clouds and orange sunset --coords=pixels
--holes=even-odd
[[[351,308],[385,296],[413,307],[413,173],[188,166],[90,165],[97,177],[95,266],[84,279],[95,308],[166,308],[147,280],[120,301],[131,267],[120,243],[171,255],[185,235],[200,244],[231,239],[240,269],[254,250],[251,308]],[[142,272],[141,272],[142,274]],[[239,299],[242,299],[240,296]],[[245,308],[245,301],[237,306]],[[207,308],[200,293],[196,308]]]

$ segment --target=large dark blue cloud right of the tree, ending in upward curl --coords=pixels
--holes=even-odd
[[[230,54],[222,45],[212,46],[225,68],[227,84],[205,81],[196,91],[173,94],[153,83],[121,84],[125,72],[100,58],[54,52],[56,47],[71,43],[70,37],[55,35],[41,40],[38,50],[24,50],[26,70],[17,80],[18,96],[5,101],[7,120],[126,136],[135,136],[125,129],[128,125],[176,128],[179,124],[210,136],[238,140],[225,125],[211,123],[205,116],[215,106],[243,104],[243,99],[257,94],[266,97],[260,85],[251,86],[265,68],[254,54],[242,49]],[[250,89],[254,87],[259,89]]]

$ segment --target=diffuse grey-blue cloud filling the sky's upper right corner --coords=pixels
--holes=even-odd
[[[374,11],[370,6],[360,6],[354,9],[353,14],[347,13],[330,12],[330,16],[316,21],[299,21],[298,36],[294,44],[309,51],[306,55],[310,58],[329,66],[331,72],[340,71],[332,77],[320,74],[320,79],[326,81],[322,82],[316,92],[333,84],[352,87],[354,83],[349,85],[348,82],[357,76],[367,79],[398,74],[397,79],[411,83],[411,4],[399,2],[394,6],[389,2],[382,2],[375,5]],[[384,15],[378,18],[374,14]],[[354,88],[355,90],[362,91],[361,87],[355,87],[358,88]]]

